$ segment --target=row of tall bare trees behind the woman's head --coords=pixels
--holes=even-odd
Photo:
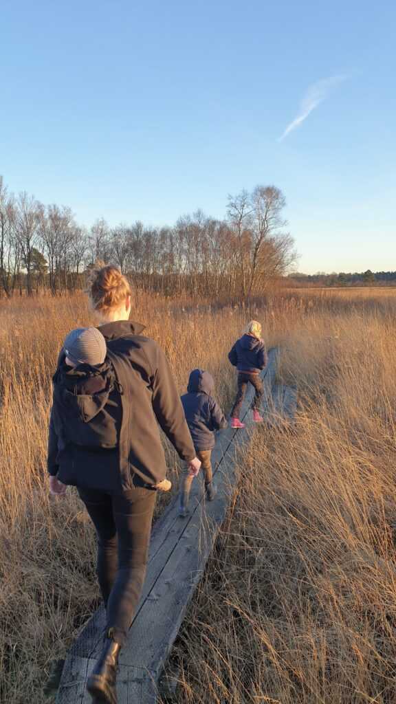
[[[280,189],[256,186],[228,196],[223,220],[197,210],[173,227],[110,227],[100,218],[87,229],[70,208],[14,196],[0,177],[0,294],[73,291],[102,260],[147,291],[247,299],[295,261],[284,208]]]

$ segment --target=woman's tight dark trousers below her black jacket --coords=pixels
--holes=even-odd
[[[123,494],[78,489],[97,530],[97,575],[107,610],[106,629],[121,646],[146,576],[156,491],[136,486]]]

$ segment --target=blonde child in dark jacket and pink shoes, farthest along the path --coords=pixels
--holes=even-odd
[[[263,382],[260,372],[266,367],[267,353],[264,341],[261,339],[261,324],[257,320],[249,322],[245,334],[235,342],[228,353],[228,359],[238,370],[237,396],[231,411],[231,427],[245,427],[245,424],[240,422],[240,410],[248,384],[252,384],[254,387],[253,420],[256,423],[261,422],[263,420],[260,415]]]

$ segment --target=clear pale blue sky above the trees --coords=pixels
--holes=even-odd
[[[394,270],[395,28],[390,1],[3,0],[0,174],[85,225],[276,184],[300,271]]]

